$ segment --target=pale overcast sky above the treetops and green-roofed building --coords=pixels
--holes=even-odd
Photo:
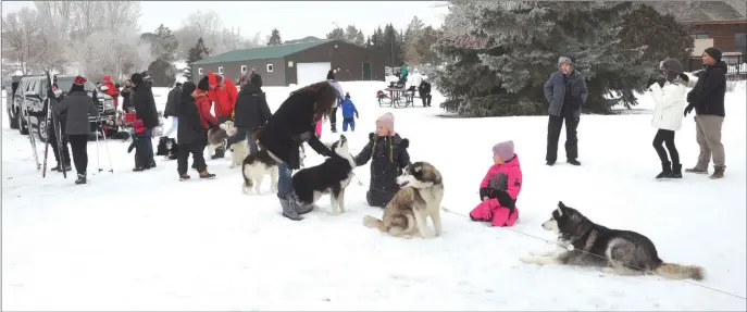
[[[393,23],[407,28],[418,15],[425,25],[440,26],[447,8],[440,1],[141,1],[140,30],[152,32],[159,24],[178,28],[189,13],[213,10],[226,27],[241,27],[245,37],[272,28],[281,30],[284,40],[306,36],[326,38],[337,23],[345,28],[356,25],[365,36],[372,29]],[[33,1],[2,1],[3,15],[23,7],[34,8]],[[438,8],[440,7],[440,8]]]

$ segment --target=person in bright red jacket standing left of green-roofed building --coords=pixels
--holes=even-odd
[[[204,77],[203,77],[204,79]],[[210,90],[208,98],[215,104],[215,117],[217,124],[223,124],[231,120],[236,107],[236,97],[238,91],[236,85],[231,79],[225,79],[222,75],[215,73],[208,73],[208,83]],[[220,147],[215,149],[215,154],[211,159],[221,159],[225,157],[225,148]]]

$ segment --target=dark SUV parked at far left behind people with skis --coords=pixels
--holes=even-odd
[[[53,78],[60,90],[67,93],[73,86],[72,75],[58,75]],[[13,90],[13,103],[8,108],[8,116],[10,118],[11,128],[17,128],[21,134],[26,135],[30,128],[36,128],[36,133],[41,141],[47,141],[46,122],[47,112],[45,111],[43,102],[47,99],[48,83],[46,76],[23,76],[17,82],[13,80],[11,88]],[[114,109],[114,99],[105,95],[101,89],[96,87],[94,83],[86,82],[84,89],[90,97],[94,98],[94,104],[99,110],[100,120],[109,125],[114,125],[114,117],[116,110]],[[10,101],[10,99],[8,100]],[[89,116],[91,134],[96,134],[98,127],[96,125],[97,117]],[[30,123],[30,124],[29,124]],[[30,128],[29,128],[30,126]]]

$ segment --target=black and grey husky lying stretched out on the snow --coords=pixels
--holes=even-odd
[[[648,237],[632,230],[611,229],[597,225],[573,208],[558,202],[552,216],[543,228],[558,234],[558,244],[572,245],[557,251],[521,258],[524,263],[568,264],[602,267],[605,273],[644,275],[655,273],[669,278],[700,280],[700,266],[665,263]],[[578,250],[575,250],[578,249]]]

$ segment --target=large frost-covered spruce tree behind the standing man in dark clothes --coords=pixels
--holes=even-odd
[[[561,55],[573,58],[586,75],[589,98],[584,110],[607,112],[617,100],[603,95],[620,87],[610,83],[617,79],[614,73],[642,54],[640,49],[625,49],[618,40],[630,3],[451,4],[445,21],[449,32],[435,47],[448,61],[435,80],[447,97],[441,107],[463,115],[546,114],[543,85],[557,71]]]

